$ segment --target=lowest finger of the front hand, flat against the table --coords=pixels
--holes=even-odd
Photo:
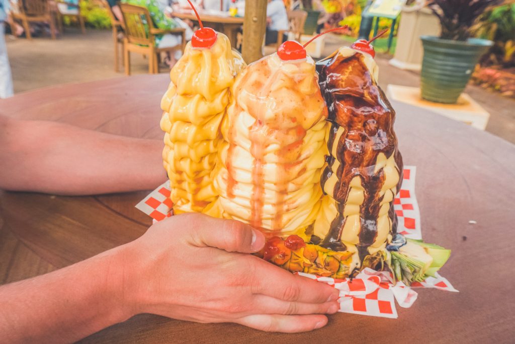
[[[327,324],[324,315],[249,315],[238,319],[239,324],[266,332],[306,332],[320,329]]]

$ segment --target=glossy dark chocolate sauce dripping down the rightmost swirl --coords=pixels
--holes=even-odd
[[[335,159],[340,162],[336,171],[338,181],[333,190],[333,197],[338,202],[338,216],[332,221],[321,245],[335,251],[346,249],[341,242],[345,225],[344,206],[349,195],[349,184],[352,178],[359,176],[365,189],[365,199],[359,209],[361,230],[357,249],[363,261],[377,235],[377,218],[383,199],[379,193],[385,181],[384,171],[380,169],[374,173],[377,155],[384,153],[390,157],[394,154],[400,177],[397,191],[402,183],[402,157],[393,132],[395,111],[373,80],[363,54],[349,57],[336,54],[317,63],[317,71],[320,90],[328,104],[328,120],[332,123],[329,152],[332,152],[333,144],[337,144],[336,156],[328,157],[328,167],[322,174],[322,188],[333,173],[331,167]],[[339,126],[346,128],[346,132],[338,142],[334,142]],[[393,210],[393,201],[390,202],[388,216],[394,234],[397,232],[397,215]]]

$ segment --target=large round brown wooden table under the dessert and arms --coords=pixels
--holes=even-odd
[[[167,75],[141,75],[66,85],[16,95],[0,107],[12,117],[161,138],[159,101],[167,84]],[[453,250],[441,274],[459,293],[422,289],[413,307],[398,307],[397,320],[336,314],[311,333],[139,315],[83,342],[512,342],[515,146],[437,114],[393,105],[405,164],[417,166],[424,239]],[[134,205],[145,194],[0,194],[0,283],[67,266],[142,235],[150,219]]]

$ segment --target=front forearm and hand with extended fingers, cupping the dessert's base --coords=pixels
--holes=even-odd
[[[274,332],[324,326],[338,290],[248,254],[264,243],[241,222],[171,217],[126,245],[0,287],[0,341],[72,342],[139,313]]]

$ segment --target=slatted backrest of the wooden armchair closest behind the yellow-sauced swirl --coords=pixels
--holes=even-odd
[[[153,36],[149,34],[153,24],[148,9],[129,4],[120,4],[120,9],[124,15],[125,36],[129,43],[154,45]]]

